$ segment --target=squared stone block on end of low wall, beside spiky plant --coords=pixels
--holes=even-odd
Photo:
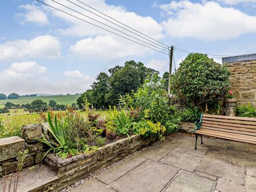
[[[42,124],[31,124],[22,127],[22,135],[27,142],[42,138]]]

